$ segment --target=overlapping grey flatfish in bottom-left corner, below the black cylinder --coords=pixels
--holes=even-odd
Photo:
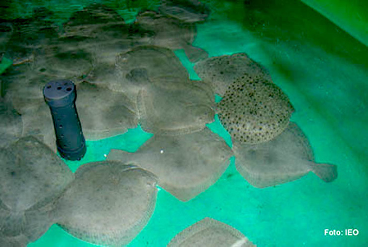
[[[26,246],[54,223],[90,243],[121,246],[155,207],[157,177],[134,165],[94,162],[73,173],[32,136],[2,148],[0,159],[2,247]]]

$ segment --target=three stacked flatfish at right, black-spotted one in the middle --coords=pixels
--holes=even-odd
[[[238,53],[204,59],[194,69],[222,97],[218,116],[231,136],[236,168],[250,184],[274,186],[309,171],[326,182],[336,179],[336,165],[314,162],[307,137],[289,121],[293,106],[265,68]]]

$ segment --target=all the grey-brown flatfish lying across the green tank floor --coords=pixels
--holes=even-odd
[[[15,62],[1,76],[0,246],[25,246],[53,223],[90,243],[128,244],[153,212],[156,183],[189,200],[220,177],[234,153],[238,171],[256,187],[309,171],[325,181],[336,177],[336,166],[314,163],[307,138],[289,123],[292,105],[267,71],[245,54],[207,58],[191,45],[206,11],[189,15],[171,2],[159,13],[139,13],[129,25],[98,4],[74,13],[63,30],[47,21],[45,9],[14,22],[6,51]],[[203,81],[188,79],[173,49],[197,62]],[[42,95],[46,82],[60,78],[76,83],[86,139],[121,134],[137,123],[154,136],[135,153],[112,150],[107,161],[73,174],[55,154]],[[214,93],[222,96],[217,105]],[[205,125],[216,110],[233,149]],[[208,218],[169,246],[193,243],[253,246]]]

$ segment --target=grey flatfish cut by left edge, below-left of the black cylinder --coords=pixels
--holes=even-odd
[[[69,167],[33,136],[2,149],[1,156],[0,199],[13,211],[27,210],[40,201],[49,202],[74,178]]]

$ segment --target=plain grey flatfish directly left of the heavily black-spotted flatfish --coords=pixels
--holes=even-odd
[[[155,80],[137,97],[139,123],[147,132],[181,135],[205,128],[214,120],[214,98],[200,82],[177,78]]]

